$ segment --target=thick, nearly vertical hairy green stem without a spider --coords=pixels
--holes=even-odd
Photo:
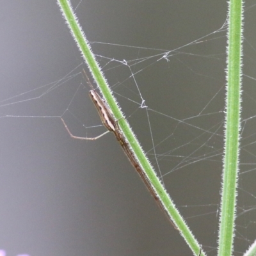
[[[229,2],[225,156],[221,193],[219,256],[233,250],[241,101],[242,0]]]

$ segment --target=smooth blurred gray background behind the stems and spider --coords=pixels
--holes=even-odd
[[[72,4],[77,6],[79,1]],[[255,8],[253,1],[247,4],[244,74],[255,76]],[[220,29],[227,17],[227,3],[86,0],[81,1],[76,13],[90,42],[171,51]],[[83,83],[70,106],[70,111],[79,118],[66,112],[65,121],[77,136],[96,136],[105,131],[102,128],[99,132],[96,129],[84,132],[82,124],[99,125],[100,120],[88,97],[90,88],[81,75],[40,99],[27,100],[36,97],[36,90],[35,94],[8,101],[24,102],[3,106],[6,103],[3,100],[58,81],[83,62],[56,1],[5,1],[1,5],[0,20],[0,249],[6,250],[8,256],[18,253],[31,256],[192,255],[179,232],[158,209],[113,134],[93,142],[72,140],[60,118],[49,118],[65,112],[77,86]],[[218,237],[225,34],[225,31],[216,33],[203,38],[201,44],[182,47],[170,53],[169,62],[156,58],[131,65],[134,74],[143,69],[136,81],[148,108],[182,120],[198,115],[209,100],[214,99],[205,113],[220,112],[191,121],[192,126],[214,133],[211,140],[209,134],[200,140],[202,145],[207,141],[207,148],[214,148],[216,157],[188,164],[164,177],[166,189],[208,255],[216,255]],[[98,54],[109,84],[116,85],[114,91],[124,113],[131,115],[129,122],[156,165],[147,113],[128,100],[140,102],[134,81],[129,78],[131,71],[124,65],[116,67],[117,62],[108,63],[100,56],[136,60],[164,51],[96,43],[92,49]],[[81,72],[83,67],[86,66],[79,66],[73,74]],[[248,77],[244,77],[244,83],[243,118],[248,118],[255,115],[255,86]],[[42,88],[40,93],[45,91]],[[157,148],[157,154],[165,154],[203,134],[202,130],[180,125],[159,113],[149,111],[148,114],[155,143],[173,136]],[[253,127],[255,125],[247,123],[244,130],[250,141],[255,141]],[[199,140],[195,141],[196,146],[193,143],[189,146],[198,148],[197,143]],[[189,156],[189,150],[191,148],[184,147],[170,152],[175,157],[159,157],[161,171],[172,170],[180,161],[178,156]],[[254,152],[254,148],[249,151]],[[208,153],[202,147],[198,156],[202,159]],[[241,154],[243,163],[254,163],[254,156],[246,158]],[[254,179],[255,172],[243,177],[242,182],[249,184],[242,183],[239,188],[246,191],[252,188],[250,193],[255,195]],[[255,205],[255,201],[249,203],[246,198],[241,205]],[[188,207],[184,207],[186,205]],[[247,227],[248,221],[248,216],[245,222],[241,220],[241,234],[244,234],[237,234],[243,238],[236,239],[234,255],[241,255],[255,238],[255,227],[252,223],[252,230]]]

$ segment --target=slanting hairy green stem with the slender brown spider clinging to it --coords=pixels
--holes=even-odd
[[[189,230],[188,225],[186,225],[182,216],[180,216],[179,211],[173,204],[168,193],[166,193],[160,180],[157,178],[157,175],[152,169],[151,164],[148,162],[148,159],[145,156],[143,150],[141,149],[140,144],[136,140],[134,134],[131,131],[131,128],[127,124],[124,116],[122,115],[122,111],[118,108],[118,104],[116,104],[115,98],[113,97],[113,94],[111,93],[109,86],[106,83],[106,79],[104,79],[102,72],[100,72],[99,65],[97,64],[97,61],[95,60],[93,53],[90,50],[90,46],[86,40],[86,37],[84,36],[81,27],[78,24],[76,16],[72,12],[70,3],[68,2],[68,0],[58,0],[58,4],[60,5],[61,12],[65,17],[65,20],[67,20],[71,33],[77,42],[77,46],[82,52],[84,60],[86,61],[88,67],[92,72],[93,78],[99,85],[102,95],[104,96],[104,99],[106,99],[106,102],[108,102],[109,108],[111,108],[111,111],[113,112],[116,120],[118,120],[118,125],[122,129],[122,132],[124,132],[124,136],[130,147],[132,148],[136,158],[138,159],[141,168],[143,169],[143,172],[146,173],[152,188],[156,191],[157,196],[159,197],[161,202],[163,202],[164,208],[168,212],[168,215],[172,219],[173,223],[175,223],[177,228],[179,228],[179,231],[184,237],[186,243],[188,243],[193,253],[198,256],[198,253],[200,252],[200,245]],[[201,256],[204,255],[204,252],[202,252]]]

